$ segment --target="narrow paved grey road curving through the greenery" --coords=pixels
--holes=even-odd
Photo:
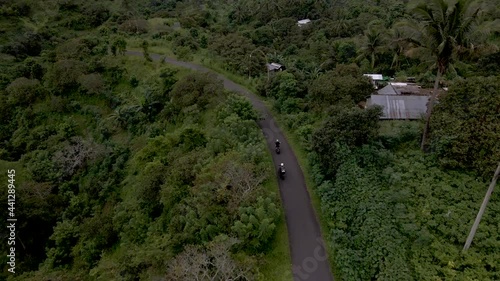
[[[143,56],[142,52],[136,51],[128,51],[127,55]],[[151,58],[160,60],[161,56],[151,54]],[[165,61],[176,66],[213,72],[203,66],[189,62],[177,61],[171,58],[166,58]],[[288,227],[293,280],[333,281],[318,220],[311,205],[304,175],[285,136],[276,125],[270,111],[256,95],[226,77],[216,74],[224,81],[224,87],[246,96],[253,106],[262,113],[265,118],[258,123],[273,155],[275,167],[278,167],[279,163],[285,164],[286,177],[285,180],[279,180],[279,187]],[[276,139],[281,141],[281,154],[279,155],[274,151],[274,141]],[[289,279],[291,280],[292,276]]]

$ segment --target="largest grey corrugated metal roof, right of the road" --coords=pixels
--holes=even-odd
[[[419,119],[427,111],[427,96],[371,95],[367,105],[380,105],[380,119]]]

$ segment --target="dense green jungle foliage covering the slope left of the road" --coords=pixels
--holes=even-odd
[[[23,3],[1,9],[24,34],[1,35],[1,166],[17,169],[20,222],[1,278],[180,280],[172,268],[206,253],[218,265],[199,276],[262,274],[282,212],[249,101],[214,74],[125,57],[126,33],[103,23],[130,31],[126,7]]]

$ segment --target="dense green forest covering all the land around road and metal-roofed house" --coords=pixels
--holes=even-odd
[[[259,116],[159,53],[272,106],[312,179],[337,280],[499,280],[496,193],[462,252],[500,160],[495,4],[0,0],[0,167],[16,169],[22,222],[18,273],[1,278],[284,280]],[[358,106],[373,91],[363,73],[448,88],[425,152],[424,120]]]

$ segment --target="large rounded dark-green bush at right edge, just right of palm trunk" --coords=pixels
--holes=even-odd
[[[500,159],[500,77],[474,77],[439,97],[431,142],[441,164],[490,178]]]

